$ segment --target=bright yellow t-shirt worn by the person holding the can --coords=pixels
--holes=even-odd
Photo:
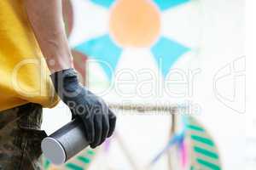
[[[0,111],[59,100],[22,2],[0,0]]]

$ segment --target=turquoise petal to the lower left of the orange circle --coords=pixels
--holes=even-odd
[[[79,52],[96,59],[102,66],[108,79],[112,79],[113,71],[118,64],[122,48],[119,48],[109,35],[103,35],[83,42],[75,47]]]

